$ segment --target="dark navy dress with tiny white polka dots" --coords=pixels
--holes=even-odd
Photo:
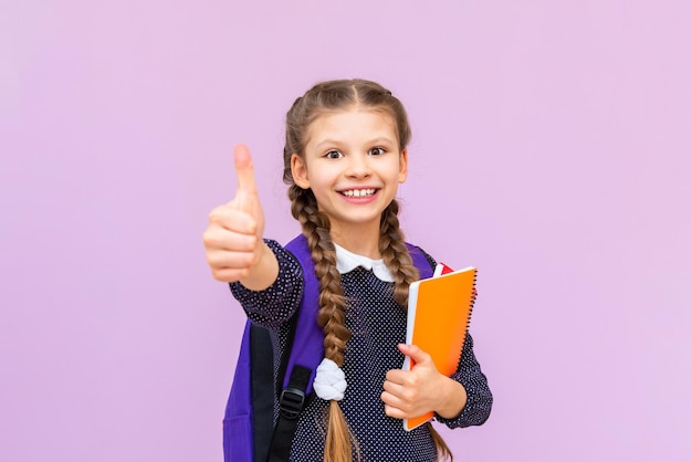
[[[286,345],[286,321],[300,305],[302,270],[295,259],[274,241],[268,241],[280,262],[276,282],[265,291],[253,292],[231,284],[233,295],[249,317],[272,328],[274,336],[275,372]],[[403,355],[397,344],[406,340],[406,313],[392,297],[394,284],[382,282],[364,267],[342,275],[344,295],[349,301],[346,326],[352,332],[344,359],[348,388],[339,405],[358,443],[361,461],[402,462],[437,460],[437,449],[426,426],[410,432],[402,421],[387,417],[380,400],[385,376],[399,369]],[[451,428],[482,423],[490,413],[492,396],[480,371],[466,338],[459,371],[454,379],[466,388],[469,400],[462,413],[452,420],[438,417]],[[314,397],[301,414],[293,440],[291,461],[321,462],[326,427],[324,418],[329,402]],[[277,403],[274,406],[274,418]]]

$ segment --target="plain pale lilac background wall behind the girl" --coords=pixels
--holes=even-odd
[[[221,461],[243,315],[209,210],[283,116],[363,76],[410,113],[409,240],[480,267],[495,406],[466,461],[692,460],[692,7],[0,3],[0,460]]]

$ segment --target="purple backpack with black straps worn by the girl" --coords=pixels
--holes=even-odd
[[[420,277],[431,277],[432,267],[417,246],[406,244]],[[248,321],[235,366],[231,393],[223,418],[224,462],[285,462],[297,418],[313,398],[315,370],[324,357],[324,332],[317,324],[319,282],[315,276],[307,239],[298,235],[286,245],[301,264],[303,296],[293,316],[289,338],[290,354],[282,358],[274,385],[273,345],[263,327]],[[274,390],[281,390],[277,393]],[[274,402],[279,419],[274,424]]]

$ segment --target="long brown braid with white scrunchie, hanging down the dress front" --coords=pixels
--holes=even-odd
[[[329,234],[329,219],[317,210],[313,191],[295,185],[289,188],[291,213],[303,228],[312,259],[315,262],[315,276],[319,281],[319,312],[317,323],[324,330],[324,356],[338,367],[344,365],[346,343],[350,330],[346,327],[346,301],[342,288],[342,275],[336,269],[336,249]],[[325,440],[325,462],[350,462],[353,450],[359,460],[358,444],[355,441],[338,401],[332,400],[327,418]]]

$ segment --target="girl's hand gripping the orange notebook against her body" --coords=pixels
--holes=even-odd
[[[381,393],[385,413],[397,419],[412,419],[431,410],[448,419],[459,416],[466,403],[463,386],[440,374],[430,355],[416,345],[398,347],[416,366],[387,372]]]

